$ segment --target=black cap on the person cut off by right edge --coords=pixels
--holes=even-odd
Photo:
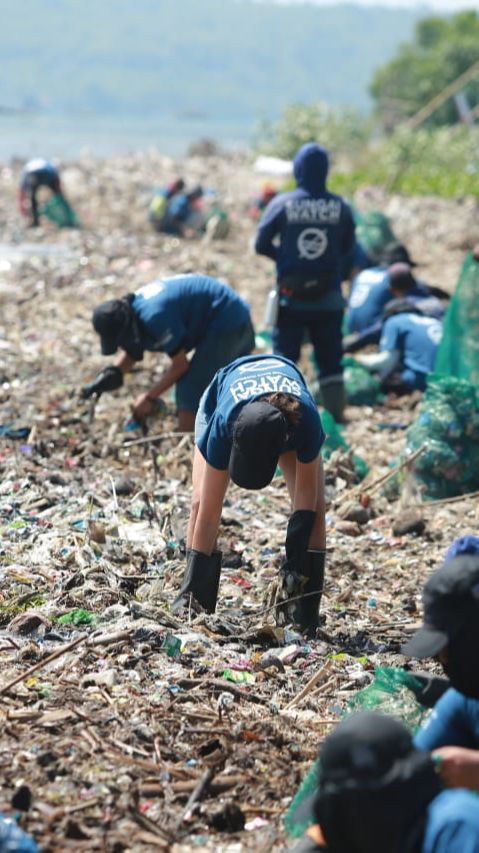
[[[447,560],[426,582],[424,624],[401,649],[416,658],[434,657],[461,628],[479,620],[479,556]]]

